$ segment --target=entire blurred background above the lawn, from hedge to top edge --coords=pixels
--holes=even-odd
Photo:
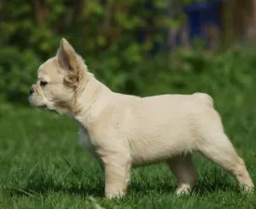
[[[221,90],[238,102],[255,83],[254,2],[2,0],[0,99],[27,105],[39,65],[65,37],[115,91],[214,96]],[[218,8],[200,8],[208,4]],[[201,17],[191,23],[196,14],[183,7]],[[210,12],[216,14],[203,25]],[[192,39],[198,27],[205,36]]]

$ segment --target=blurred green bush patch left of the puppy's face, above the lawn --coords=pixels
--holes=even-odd
[[[24,102],[36,79],[40,60],[31,50],[16,47],[0,49],[0,98]]]

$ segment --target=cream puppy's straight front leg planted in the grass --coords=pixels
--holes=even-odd
[[[120,198],[127,192],[130,158],[124,153],[109,154],[102,158],[105,172],[105,195]]]

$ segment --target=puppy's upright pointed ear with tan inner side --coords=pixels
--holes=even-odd
[[[77,56],[73,46],[64,38],[61,39],[61,45],[57,53],[57,59],[61,68],[68,71],[75,71],[78,67]]]

